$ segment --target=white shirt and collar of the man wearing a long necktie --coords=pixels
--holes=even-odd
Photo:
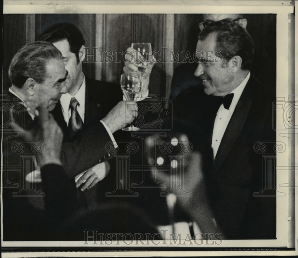
[[[80,114],[80,117],[82,118],[84,122],[84,115],[85,115],[85,94],[86,94],[86,79],[85,76],[83,77],[83,82],[80,87],[80,89],[77,91],[77,93],[72,96],[69,93],[62,94],[60,98],[60,103],[62,107],[62,112],[64,116],[65,122],[68,124],[70,114],[69,114],[69,104],[72,97],[75,97],[77,101],[79,102],[79,106],[77,107],[77,111]]]

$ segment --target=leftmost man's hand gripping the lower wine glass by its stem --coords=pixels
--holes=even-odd
[[[137,116],[136,102],[120,101],[102,121],[114,133],[134,121],[134,118]]]

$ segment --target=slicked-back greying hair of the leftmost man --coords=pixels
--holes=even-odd
[[[33,42],[18,50],[10,62],[10,82],[21,88],[28,78],[43,83],[46,77],[46,63],[50,59],[62,59],[61,52],[50,42]]]

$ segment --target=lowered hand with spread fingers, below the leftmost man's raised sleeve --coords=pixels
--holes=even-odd
[[[82,184],[81,191],[92,188],[99,181],[103,180],[110,171],[110,164],[106,161],[99,163],[94,167],[88,169],[83,175],[77,180],[77,188]]]

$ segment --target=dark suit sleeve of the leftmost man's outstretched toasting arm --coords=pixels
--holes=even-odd
[[[67,176],[73,178],[96,164],[111,159],[114,149],[107,150],[111,141],[104,125],[98,121],[83,130],[80,139],[64,142],[62,161]]]

